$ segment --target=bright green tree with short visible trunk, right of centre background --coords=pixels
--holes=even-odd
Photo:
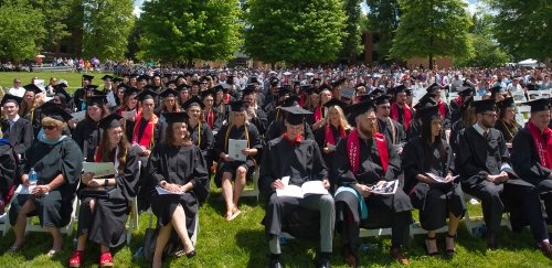
[[[471,55],[468,34],[471,24],[463,0],[399,0],[401,18],[390,56],[433,60],[442,56]]]

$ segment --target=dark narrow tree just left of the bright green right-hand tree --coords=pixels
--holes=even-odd
[[[388,57],[396,28],[399,26],[400,7],[396,0],[367,0],[368,30],[379,37],[378,54]]]

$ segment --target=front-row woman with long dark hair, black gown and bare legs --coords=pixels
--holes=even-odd
[[[436,229],[448,221],[446,253],[454,255],[458,224],[466,212],[466,203],[459,181],[455,181],[454,157],[450,147],[440,138],[442,119],[437,106],[418,109],[422,135],[404,147],[402,168],[404,190],[414,207],[420,210],[420,222],[427,231],[425,248],[428,255],[437,255]],[[428,173],[445,181],[435,181]]]

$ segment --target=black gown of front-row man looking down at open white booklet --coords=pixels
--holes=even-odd
[[[293,143],[279,137],[266,144],[263,151],[258,185],[261,193],[266,196],[267,203],[270,202],[270,196],[276,194],[276,191],[272,190],[270,183],[284,176],[289,176],[289,184],[298,186],[307,181],[321,181],[328,178],[328,169],[316,141],[302,140],[299,143]],[[263,218],[266,235],[278,235],[282,231],[290,231],[291,227],[286,224],[289,222],[287,215],[298,207],[298,205],[283,204],[279,213],[267,211]],[[308,210],[302,211],[309,212]],[[319,214],[316,213],[316,215]],[[297,224],[305,222],[308,221],[301,218]],[[318,223],[319,219],[314,222]],[[319,228],[309,231],[315,234],[320,232]]]

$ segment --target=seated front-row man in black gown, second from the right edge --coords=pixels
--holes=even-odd
[[[497,120],[495,99],[471,105],[477,122],[459,135],[457,169],[463,191],[481,200],[487,247],[498,247],[498,232],[506,210],[510,212],[512,228],[519,225],[514,219],[524,217],[529,219],[534,239],[544,242],[549,237],[539,192],[516,174],[502,133],[492,128]]]

